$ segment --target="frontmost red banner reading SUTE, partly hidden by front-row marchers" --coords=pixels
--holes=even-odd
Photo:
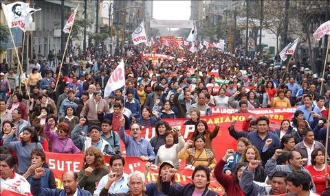
[[[67,154],[63,155],[46,152],[46,162],[54,173],[56,185],[58,188],[63,188],[61,177],[65,171],[74,171],[77,173],[80,171],[80,169],[83,167],[84,156],[84,154],[70,154],[69,156],[67,156]],[[109,167],[110,156],[104,156],[104,158],[107,162],[107,167]],[[125,173],[133,173],[134,171],[145,171],[144,167],[146,162],[140,160],[140,158],[126,157],[125,162]],[[175,175],[176,182],[183,186],[188,183],[192,183],[192,171],[193,170],[191,169],[180,169],[179,171],[177,171],[177,174]],[[146,176],[146,181],[147,183],[156,182],[157,177],[158,167],[153,164],[148,175]],[[212,175],[209,187],[212,191],[216,191],[217,193],[222,195],[223,188],[216,180],[214,180]]]

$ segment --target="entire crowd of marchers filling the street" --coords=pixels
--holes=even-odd
[[[3,60],[1,191],[218,195],[208,188],[213,175],[227,195],[329,195],[325,143],[330,66],[321,85],[322,78],[311,71],[307,59],[292,59],[284,66],[267,53],[251,59],[243,58],[241,52],[203,49],[190,53],[160,45],[128,45],[123,55],[111,56],[89,48],[86,53],[67,54],[63,67],[58,63],[56,70],[52,56],[32,60],[23,75],[14,73]],[[153,62],[141,59],[140,53],[173,58]],[[121,59],[126,85],[104,96],[109,76]],[[228,131],[236,139],[236,151],[227,149],[220,160],[214,150],[218,144],[212,143],[219,137],[219,124],[211,130],[203,120],[212,115],[212,107],[248,113],[242,127],[230,122]],[[267,117],[249,112],[289,107],[296,107],[296,112],[278,130],[272,130]],[[195,132],[188,138],[164,121],[177,118],[186,119],[184,125],[194,125]],[[155,127],[151,140],[142,136],[145,127]],[[122,149],[126,156],[146,162],[146,171],[124,173]],[[63,174],[64,189],[56,188],[45,151],[85,155],[79,173]],[[104,155],[111,156],[109,167]],[[175,182],[182,161],[184,168],[193,170],[192,182],[184,186]],[[151,164],[159,167],[157,180],[146,183]]]

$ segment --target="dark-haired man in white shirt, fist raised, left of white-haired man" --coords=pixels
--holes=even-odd
[[[115,155],[110,158],[110,173],[115,173],[115,182],[109,178],[109,174],[104,175],[98,183],[96,191],[94,191],[94,196],[100,195],[104,187],[109,189],[108,192],[111,194],[129,192],[129,187],[127,186],[128,175],[124,173],[124,165],[125,160],[122,156]]]

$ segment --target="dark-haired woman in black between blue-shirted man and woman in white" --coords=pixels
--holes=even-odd
[[[155,125],[155,132],[156,136],[151,138],[150,143],[151,146],[153,147],[153,151],[155,151],[155,154],[157,154],[157,151],[160,146],[165,145],[165,134],[166,132],[171,132],[172,128],[170,125],[168,125],[167,122],[165,121],[158,121]]]

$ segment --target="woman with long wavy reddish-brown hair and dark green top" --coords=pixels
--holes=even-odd
[[[84,165],[78,174],[78,185],[93,194],[96,189],[96,183],[108,173],[109,169],[105,166],[102,151],[96,147],[86,149]]]

